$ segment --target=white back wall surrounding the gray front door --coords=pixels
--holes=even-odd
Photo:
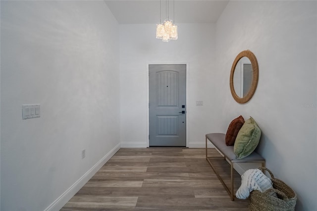
[[[188,146],[203,147],[217,112],[212,71],[215,69],[215,24],[177,24],[178,40],[155,38],[155,24],[120,25],[121,146],[147,147],[147,63],[188,63]],[[196,106],[204,101],[204,106]]]

